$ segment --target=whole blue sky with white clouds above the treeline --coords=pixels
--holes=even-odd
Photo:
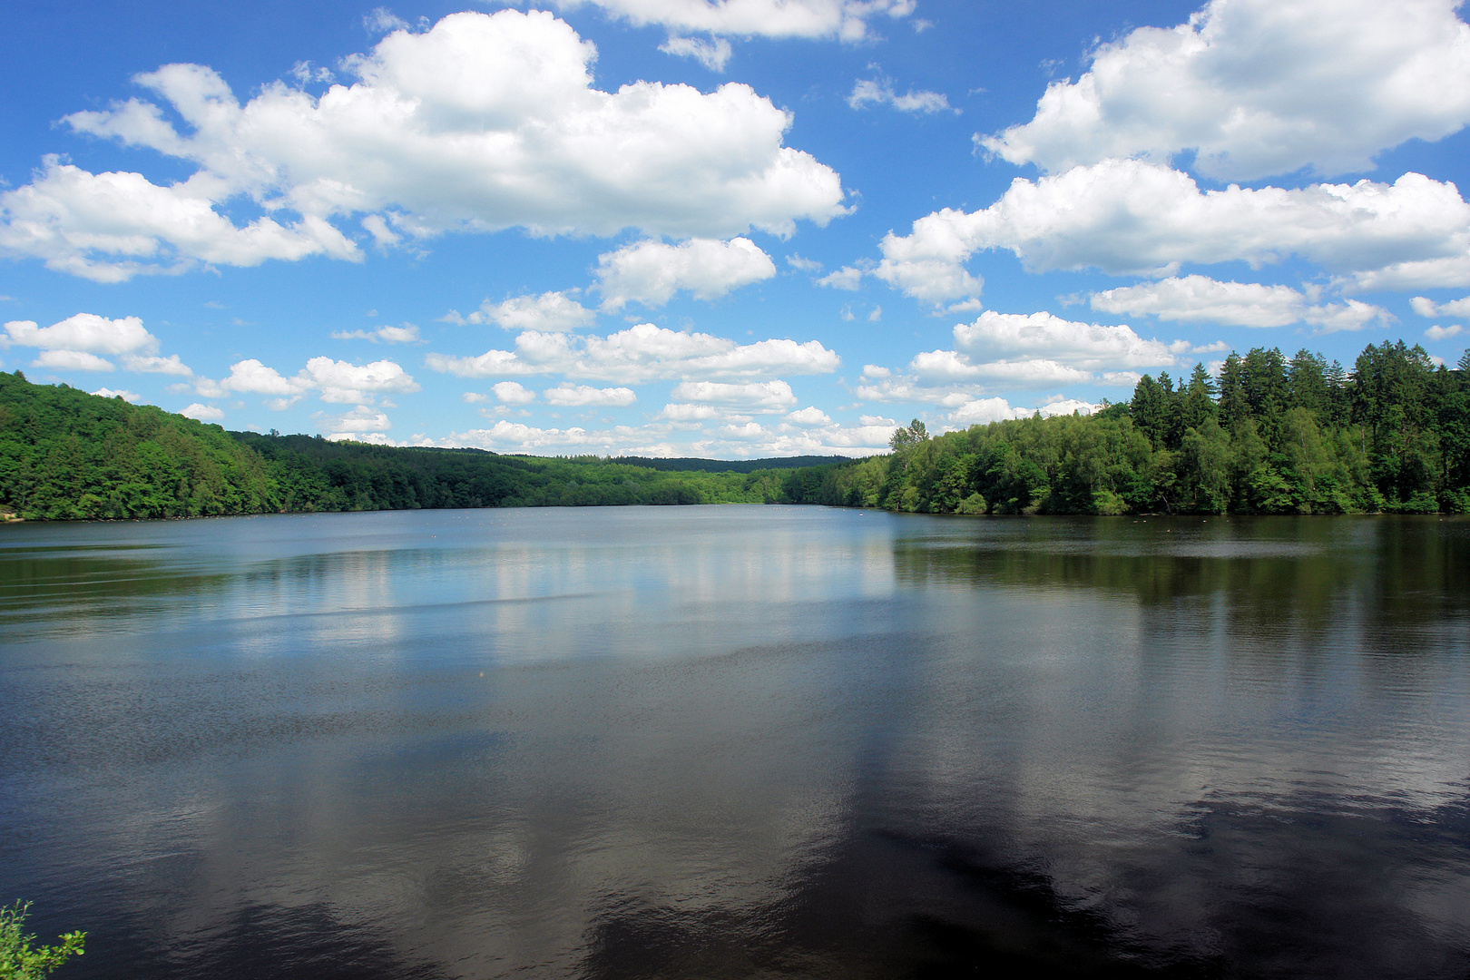
[[[0,366],[229,429],[861,454],[1470,336],[1444,0],[13,21]]]

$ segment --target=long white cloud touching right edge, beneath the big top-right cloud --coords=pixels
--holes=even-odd
[[[1360,288],[1470,284],[1470,206],[1454,184],[1405,173],[1394,184],[1201,191],[1139,160],[1104,160],[1038,181],[1017,178],[979,212],[944,209],[881,242],[875,275],[908,295],[976,295],[963,263],[1004,248],[1030,272],[1095,267],[1169,275],[1182,263],[1299,256]]]

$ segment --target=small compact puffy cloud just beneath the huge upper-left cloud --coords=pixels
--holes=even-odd
[[[748,238],[691,238],[679,245],[639,241],[597,257],[598,288],[610,310],[629,301],[663,306],[679,289],[713,300],[773,275],[776,263]]]

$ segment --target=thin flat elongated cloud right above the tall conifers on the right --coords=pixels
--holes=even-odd
[[[1200,275],[1104,289],[1094,292],[1091,303],[1101,313],[1148,313],[1160,320],[1227,326],[1310,323],[1322,332],[1357,331],[1394,319],[1388,310],[1360,300],[1319,304],[1291,287],[1219,282]]]

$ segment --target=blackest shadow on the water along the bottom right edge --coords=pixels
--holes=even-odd
[[[1470,808],[1451,810],[1424,823],[1217,808],[1164,867],[1120,883],[1189,904],[1182,918],[1208,909],[1173,933],[1160,929],[1167,911],[1063,895],[1045,870],[975,842],[857,833],[773,904],[684,912],[610,902],[579,976],[1451,980],[1470,976],[1470,949],[1394,901],[1394,889],[1416,886],[1395,879],[1410,848],[1470,843]],[[1242,877],[1274,868],[1282,880],[1200,893],[1222,867]]]

